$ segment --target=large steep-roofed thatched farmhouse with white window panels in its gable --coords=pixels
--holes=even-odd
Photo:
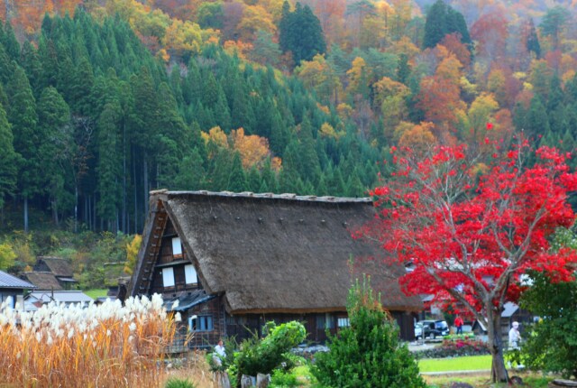
[[[323,342],[327,328],[348,326],[351,282],[368,273],[401,337],[413,339],[422,302],[400,291],[405,269],[351,236],[374,215],[371,199],[153,191],[128,295],[161,293],[194,332],[190,346],[292,319]]]

